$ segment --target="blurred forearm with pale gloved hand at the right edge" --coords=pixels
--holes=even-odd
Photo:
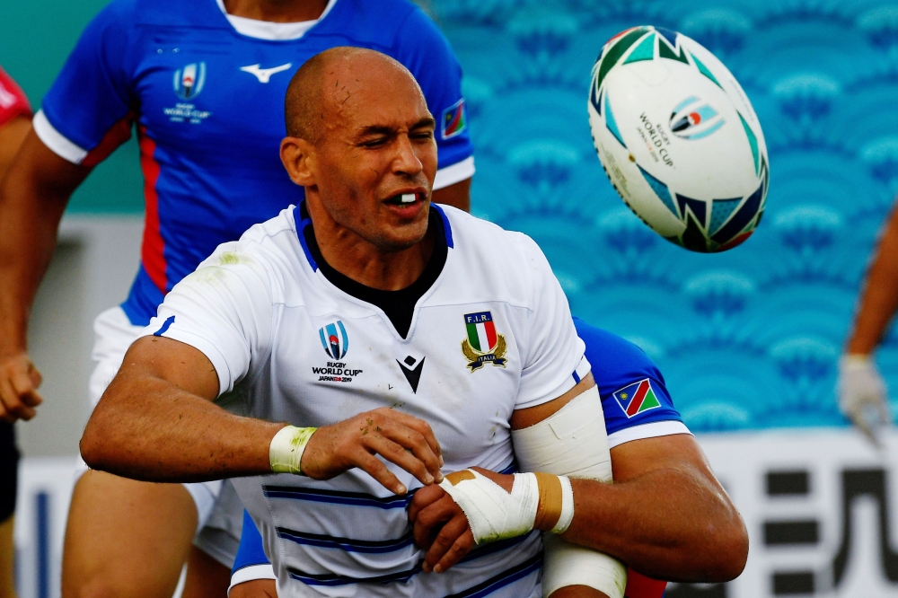
[[[885,222],[845,354],[839,361],[839,405],[851,422],[874,443],[876,428],[891,420],[885,383],[873,353],[898,309],[898,209]]]

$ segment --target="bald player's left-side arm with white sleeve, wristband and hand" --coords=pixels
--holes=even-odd
[[[392,492],[405,493],[375,456],[380,455],[422,484],[441,481],[433,431],[394,409],[301,429],[238,417],[213,402],[258,371],[276,325],[268,270],[240,251],[240,243],[226,245],[172,289],[145,336],[128,349],[84,430],[84,462],[160,482],[272,471],[330,479],[358,468]],[[278,438],[286,438],[286,446]],[[291,454],[295,466],[282,469]]]

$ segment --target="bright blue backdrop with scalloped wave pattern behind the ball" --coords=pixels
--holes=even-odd
[[[637,343],[695,431],[844,426],[836,362],[898,188],[898,4],[434,0],[464,68],[477,215],[540,243],[573,311]],[[682,31],[744,86],[770,151],[753,238],[698,255],[605,179],[586,122],[604,42]],[[898,333],[878,362],[898,389]],[[896,405],[894,405],[896,406]]]

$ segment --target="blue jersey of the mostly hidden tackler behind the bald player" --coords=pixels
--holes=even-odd
[[[664,377],[642,349],[577,317],[574,318],[574,326],[577,336],[585,343],[584,356],[592,365],[595,384],[602,397],[605,429],[612,447],[641,438],[689,434],[679,412],[674,408]],[[648,381],[649,390],[655,395],[658,407],[650,400],[647,401],[647,391],[642,393],[638,407],[632,404],[633,400],[637,400],[635,397],[621,399],[622,390],[636,385],[638,391],[638,386],[644,381]],[[615,397],[615,394],[618,396]],[[637,412],[628,417],[629,407]],[[232,584],[253,579],[274,579],[259,529],[245,511],[240,548],[234,558],[231,575]],[[663,583],[648,580],[632,570],[629,571],[629,577],[634,581],[632,586],[628,584],[627,587],[626,595],[629,598],[659,598],[664,594]],[[637,581],[640,583],[636,583]]]

